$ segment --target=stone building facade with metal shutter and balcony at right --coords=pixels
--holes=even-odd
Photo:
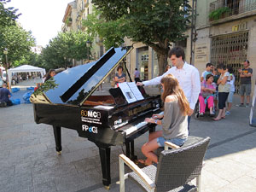
[[[207,62],[238,69],[246,59],[256,74],[256,0],[197,0],[193,62],[200,72]],[[215,16],[214,16],[215,15]]]

